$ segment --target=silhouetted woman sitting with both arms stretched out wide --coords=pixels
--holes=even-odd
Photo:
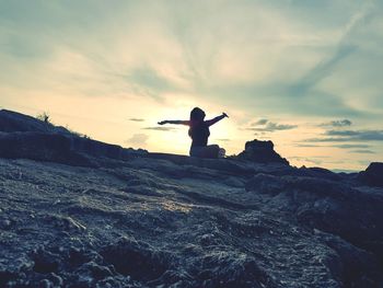
[[[159,122],[159,124],[181,124],[189,126],[189,136],[192,137],[190,155],[200,158],[223,157],[224,149],[220,148],[218,145],[208,145],[208,138],[210,136],[209,127],[229,116],[222,113],[222,115],[210,120],[205,120],[205,116],[206,114],[201,108],[195,107],[190,112],[189,120],[163,120]]]

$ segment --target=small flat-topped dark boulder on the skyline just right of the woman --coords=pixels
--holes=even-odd
[[[245,150],[242,151],[236,158],[257,163],[282,163],[289,165],[289,161],[281,158],[274,150],[272,141],[260,141],[257,139],[247,141],[245,145]]]

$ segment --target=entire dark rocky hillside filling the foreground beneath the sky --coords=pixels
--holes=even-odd
[[[382,287],[382,168],[150,153],[0,111],[0,287]]]

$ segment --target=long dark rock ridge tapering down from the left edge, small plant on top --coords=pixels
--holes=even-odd
[[[81,137],[63,127],[21,113],[0,111],[1,158],[90,165],[88,155],[127,160],[144,152]]]

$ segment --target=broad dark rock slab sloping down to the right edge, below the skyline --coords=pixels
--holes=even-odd
[[[248,192],[271,196],[269,204],[297,215],[305,224],[340,235],[383,261],[383,195],[323,177],[257,174]]]

